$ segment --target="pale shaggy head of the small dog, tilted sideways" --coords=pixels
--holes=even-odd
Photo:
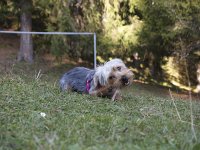
[[[121,59],[113,59],[97,67],[94,75],[94,86],[121,88],[133,81],[133,73]]]

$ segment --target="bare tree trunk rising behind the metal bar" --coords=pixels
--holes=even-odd
[[[32,30],[32,0],[20,1],[20,24],[21,31],[30,32]],[[18,61],[33,63],[33,41],[31,34],[21,34]]]

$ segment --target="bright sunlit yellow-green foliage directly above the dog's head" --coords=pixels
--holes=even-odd
[[[105,0],[104,3],[102,16],[104,29],[103,36],[100,37],[100,56],[104,56],[105,53],[107,57],[130,57],[132,46],[137,44],[137,32],[141,30],[142,26],[139,12],[136,11],[139,2]],[[110,54],[108,55],[106,51]]]

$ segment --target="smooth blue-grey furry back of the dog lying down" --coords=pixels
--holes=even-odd
[[[60,79],[62,90],[86,92],[86,78],[94,74],[94,70],[85,67],[75,67],[66,72]]]

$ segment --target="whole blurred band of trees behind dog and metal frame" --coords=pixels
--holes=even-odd
[[[198,0],[29,0],[34,31],[97,33],[98,61],[120,57],[136,77],[194,89],[200,57]],[[16,29],[20,0],[0,2],[0,28]],[[34,36],[36,55],[93,60],[92,37]],[[138,54],[135,57],[135,54]]]

